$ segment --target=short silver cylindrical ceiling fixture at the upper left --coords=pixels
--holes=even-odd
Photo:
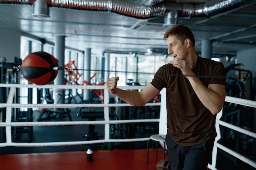
[[[34,3],[34,17],[38,18],[49,18],[49,7],[45,0],[36,0]]]

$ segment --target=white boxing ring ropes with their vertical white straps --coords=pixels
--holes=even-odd
[[[126,90],[141,90],[145,86],[119,86],[119,88],[126,89]],[[134,142],[134,141],[147,141],[149,137],[147,138],[134,138],[134,139],[110,139],[110,124],[126,124],[126,123],[142,123],[142,122],[159,122],[164,117],[166,119],[166,116],[161,116],[161,113],[164,113],[164,110],[166,107],[163,107],[165,100],[161,101],[161,103],[148,103],[145,106],[161,106],[160,111],[160,119],[132,119],[132,120],[110,120],[109,117],[109,108],[110,107],[126,107],[131,106],[130,104],[109,104],[109,92],[106,90],[106,86],[81,86],[81,85],[21,85],[21,84],[0,84],[0,88],[7,88],[8,91],[8,98],[7,103],[1,103],[0,108],[6,108],[6,119],[3,122],[0,122],[0,127],[5,127],[6,131],[6,142],[0,143],[0,147],[7,147],[7,146],[15,146],[15,147],[35,147],[35,146],[67,146],[67,145],[84,145],[84,144],[97,144],[97,143],[108,143],[108,142]],[[103,89],[104,90],[104,102],[103,104],[17,104],[13,103],[13,99],[15,97],[16,89],[20,88],[50,88],[54,90],[59,89],[83,89],[83,90],[92,90],[92,89]],[[161,93],[162,95],[165,95],[165,93]],[[161,97],[161,98],[165,98]],[[232,104],[238,104],[242,106],[252,107],[256,108],[256,102],[247,100],[247,99],[240,99],[236,97],[229,97],[227,96],[225,99],[225,102],[229,102]],[[13,108],[103,108],[104,110],[104,121],[40,121],[40,122],[12,122],[12,110]],[[224,152],[227,152],[228,154],[236,157],[237,159],[247,163],[248,165],[256,168],[256,162],[249,159],[248,157],[245,157],[244,155],[241,155],[240,153],[231,150],[221,144],[218,143],[218,141],[221,139],[221,133],[220,133],[220,126],[235,130],[237,132],[240,132],[242,134],[248,135],[250,137],[256,138],[256,133],[251,132],[249,130],[245,130],[243,128],[240,128],[238,126],[234,126],[232,124],[229,124],[227,122],[221,121],[220,118],[222,117],[222,111],[217,114],[216,117],[216,141],[213,147],[213,155],[211,164],[208,164],[208,168],[211,170],[217,170],[216,169],[216,157],[217,157],[217,149],[220,149]],[[12,135],[11,135],[11,127],[17,127],[17,126],[65,126],[65,125],[96,125],[96,124],[103,124],[105,126],[105,133],[104,133],[104,139],[99,140],[90,140],[90,141],[68,141],[68,142],[40,142],[40,143],[32,143],[32,142],[22,142],[17,143],[12,141]],[[160,126],[160,125],[159,125]],[[159,127],[160,128],[160,127]],[[159,130],[160,131],[160,130]]]

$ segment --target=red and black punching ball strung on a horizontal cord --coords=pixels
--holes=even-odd
[[[50,84],[58,74],[58,60],[51,54],[39,51],[25,57],[21,63],[21,73],[27,81],[36,85]]]

